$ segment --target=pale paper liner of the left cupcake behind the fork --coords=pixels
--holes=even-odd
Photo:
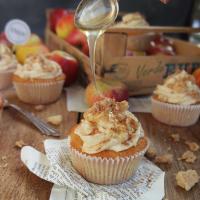
[[[62,92],[64,80],[46,83],[13,82],[18,98],[30,104],[48,104],[56,101]]]

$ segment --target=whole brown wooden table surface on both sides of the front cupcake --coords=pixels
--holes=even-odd
[[[21,107],[35,112],[42,119],[50,115],[62,114],[64,117],[60,131],[62,138],[67,135],[71,126],[77,123],[78,114],[68,112],[66,99],[62,98],[46,107],[42,112],[36,112],[33,106],[22,104],[14,94],[9,94],[9,100]],[[189,128],[177,128],[163,125],[157,122],[150,114],[137,114],[149,138],[155,144],[159,153],[166,153],[171,147],[174,162],[171,167],[161,166],[166,171],[166,198],[169,200],[199,200],[200,183],[191,191],[185,192],[175,183],[175,174],[179,170],[189,168],[196,169],[200,174],[200,155],[195,164],[186,164],[177,161],[177,158],[187,150],[184,140],[194,141],[200,144],[200,122]],[[170,138],[173,133],[179,133],[181,142],[175,143]],[[31,124],[12,110],[5,110],[0,124],[0,200],[46,200],[49,199],[52,184],[41,180],[31,174],[20,161],[20,149],[15,147],[15,142],[23,140],[27,145],[34,146],[40,151],[43,149],[43,141],[48,138],[41,135]],[[6,158],[4,158],[6,156]],[[5,165],[7,164],[7,166]],[[4,165],[4,166],[3,166]]]

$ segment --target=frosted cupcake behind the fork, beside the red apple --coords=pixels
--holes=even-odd
[[[60,65],[44,55],[26,59],[18,65],[13,83],[18,98],[30,104],[48,104],[56,101],[62,92],[65,75]]]

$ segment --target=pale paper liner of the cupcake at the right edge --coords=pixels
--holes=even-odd
[[[152,115],[160,122],[172,126],[191,126],[200,115],[200,105],[175,105],[151,98]]]

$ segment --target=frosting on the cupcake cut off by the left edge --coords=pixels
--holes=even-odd
[[[0,44],[0,71],[14,70],[16,67],[15,55],[5,44]]]

